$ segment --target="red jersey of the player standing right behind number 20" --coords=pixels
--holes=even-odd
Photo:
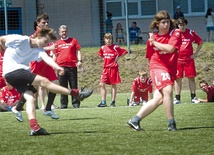
[[[178,61],[192,60],[190,57],[193,55],[193,43],[201,44],[203,41],[200,36],[193,30],[186,29],[181,32],[182,44],[180,46]]]

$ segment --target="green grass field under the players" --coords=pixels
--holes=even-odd
[[[205,97],[197,91],[198,97]],[[59,120],[43,116],[37,110],[39,124],[50,136],[29,136],[29,123],[18,122],[11,112],[0,113],[0,154],[22,155],[211,155],[214,153],[214,104],[190,104],[189,92],[182,92],[182,104],[175,105],[178,131],[167,131],[167,120],[160,106],[141,121],[145,132],[127,127],[138,107],[127,107],[128,93],[117,96],[116,108],[96,108],[100,95],[84,100],[80,109],[71,104],[56,109]],[[59,96],[56,98],[56,103]],[[110,101],[108,96],[107,101]],[[109,102],[108,102],[109,103]]]

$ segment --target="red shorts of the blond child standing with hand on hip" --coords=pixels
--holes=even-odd
[[[121,83],[118,67],[103,68],[100,82],[111,85]]]

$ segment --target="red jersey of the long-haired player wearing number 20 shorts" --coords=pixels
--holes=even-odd
[[[173,53],[159,54],[160,50],[154,46],[150,46],[148,41],[146,58],[150,60],[150,70],[163,69],[166,70],[172,76],[172,78],[175,78],[178,50],[182,43],[180,30],[173,30],[165,35],[158,35],[157,32],[154,34],[154,37],[157,42],[172,45],[177,50],[175,50]]]

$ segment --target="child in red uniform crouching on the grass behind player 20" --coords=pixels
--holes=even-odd
[[[139,71],[139,77],[134,79],[132,83],[132,93],[129,98],[129,106],[139,105],[148,101],[148,93],[152,98],[152,80],[148,77],[147,72]]]

